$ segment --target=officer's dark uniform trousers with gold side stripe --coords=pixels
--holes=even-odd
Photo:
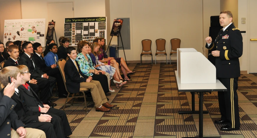
[[[221,119],[228,121],[228,126],[232,128],[240,127],[238,109],[238,77],[218,78],[227,88],[227,92],[218,92]]]

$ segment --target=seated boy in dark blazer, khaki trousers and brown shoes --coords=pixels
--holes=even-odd
[[[79,92],[80,88],[90,89],[96,111],[109,112],[109,108],[116,107],[107,101],[104,90],[99,81],[92,80],[91,76],[86,76],[81,72],[78,61],[76,61],[77,51],[74,47],[67,48],[69,56],[65,66],[66,87],[70,93]]]

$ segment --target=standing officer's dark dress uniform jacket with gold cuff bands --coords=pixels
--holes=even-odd
[[[240,77],[238,58],[243,54],[243,37],[238,28],[230,24],[225,31],[221,29],[215,41],[209,47],[206,43],[205,47],[211,51],[220,51],[220,56],[215,57],[217,78]]]

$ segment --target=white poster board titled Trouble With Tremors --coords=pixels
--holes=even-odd
[[[45,19],[4,20],[4,44],[7,41],[30,41],[45,46]]]

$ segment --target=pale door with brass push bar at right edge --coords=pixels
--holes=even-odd
[[[257,73],[257,41],[250,41],[250,39],[257,39],[257,1],[249,0],[249,73]]]

